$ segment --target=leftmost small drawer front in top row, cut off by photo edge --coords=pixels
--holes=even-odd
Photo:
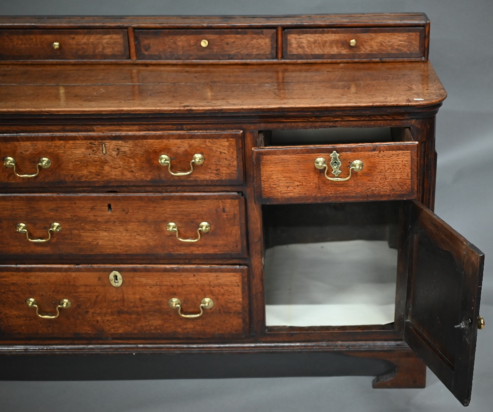
[[[1,60],[129,58],[126,30],[0,30]]]

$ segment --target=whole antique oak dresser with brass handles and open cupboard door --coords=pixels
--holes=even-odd
[[[484,256],[432,212],[428,44],[421,13],[1,18],[0,377],[427,365],[467,405]]]

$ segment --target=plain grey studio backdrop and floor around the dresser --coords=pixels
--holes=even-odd
[[[438,113],[436,213],[486,254],[472,402],[493,410],[493,0],[0,0],[2,15],[425,12],[430,60],[449,97]],[[1,96],[0,96],[1,99]],[[36,371],[42,374],[42,371]],[[0,382],[0,411],[462,411],[428,371],[425,389],[370,377]]]

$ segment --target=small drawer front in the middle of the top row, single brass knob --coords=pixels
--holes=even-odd
[[[137,59],[276,58],[275,30],[136,30]]]

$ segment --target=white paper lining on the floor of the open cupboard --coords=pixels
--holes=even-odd
[[[393,322],[397,250],[386,241],[289,244],[265,252],[267,326]]]

